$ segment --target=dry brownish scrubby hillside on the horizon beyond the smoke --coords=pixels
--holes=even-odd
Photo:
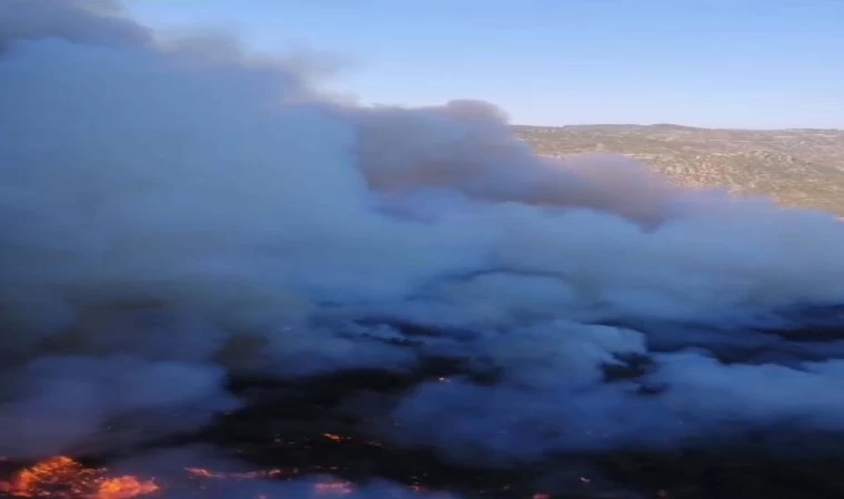
[[[844,130],[656,125],[514,126],[540,154],[622,154],[687,187],[767,195],[844,216]]]

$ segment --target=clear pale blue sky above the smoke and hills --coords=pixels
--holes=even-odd
[[[844,0],[130,0],[142,21],[308,48],[364,103],[515,123],[844,128]]]

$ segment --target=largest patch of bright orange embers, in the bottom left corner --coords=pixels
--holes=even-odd
[[[0,492],[12,497],[129,499],[159,490],[135,477],[107,478],[105,469],[86,468],[68,457],[54,457],[0,481]]]

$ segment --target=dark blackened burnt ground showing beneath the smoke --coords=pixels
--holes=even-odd
[[[837,342],[844,329],[815,326],[778,335]],[[644,357],[624,360],[626,367],[607,368],[607,381],[637,377],[652,367]],[[380,416],[389,414],[392,395],[465,373],[460,360],[430,359],[403,374],[352,370],[285,381],[231,379],[231,390],[247,404],[198,432],[148,441],[121,455],[78,457],[97,466],[157,448],[201,444],[253,469],[282,469],[284,478],[332,475],[359,483],[380,478],[468,498],[844,498],[842,435],[768,428],[672,452],[549,456],[542,462],[491,469],[451,462],[433,449],[396,447],[366,432],[366,428],[392,424]],[[478,376],[476,383],[495,383],[494,373]],[[370,416],[358,410],[362,401],[374,407]],[[28,465],[0,462],[0,472],[6,476]]]

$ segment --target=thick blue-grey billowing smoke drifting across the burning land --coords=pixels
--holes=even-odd
[[[508,462],[844,430],[842,344],[792,334],[844,303],[833,216],[539,157],[483,102],[335,103],[111,2],[7,0],[0,44],[0,455],[195,428],[237,376],[442,357],[464,374],[373,434]]]

